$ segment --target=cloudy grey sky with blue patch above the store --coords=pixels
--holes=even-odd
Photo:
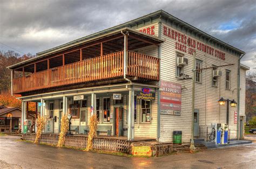
[[[0,50],[36,54],[160,9],[245,51],[256,70],[255,0],[0,0]]]

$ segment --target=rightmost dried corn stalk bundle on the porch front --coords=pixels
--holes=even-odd
[[[89,124],[89,135],[87,139],[87,146],[86,146],[86,151],[92,150],[92,142],[93,138],[97,136],[97,124],[98,124],[98,119],[96,115],[92,115],[90,118],[90,124]]]

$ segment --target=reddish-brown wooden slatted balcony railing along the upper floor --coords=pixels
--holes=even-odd
[[[147,81],[159,80],[159,59],[144,54],[127,52],[126,76]],[[124,75],[124,51],[87,59],[32,73],[12,80],[14,94],[28,91],[70,86],[122,78]]]

